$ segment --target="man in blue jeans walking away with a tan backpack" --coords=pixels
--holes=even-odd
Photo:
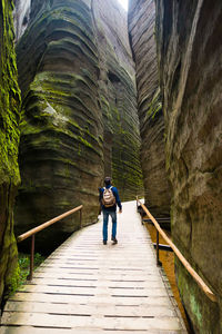
[[[117,240],[117,205],[119,206],[119,213],[122,213],[122,205],[120,202],[119,193],[115,187],[111,185],[111,177],[107,176],[104,178],[104,188],[100,188],[100,204],[103,214],[103,244],[107,245],[108,242],[108,222],[109,216],[112,218],[112,242],[113,245],[118,243]]]

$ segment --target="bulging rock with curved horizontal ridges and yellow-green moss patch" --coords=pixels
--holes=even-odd
[[[41,4],[17,48],[26,110],[18,233],[80,204],[84,224],[95,222],[103,174],[99,62],[90,8],[82,1]],[[58,223],[50,247],[79,227],[78,214]],[[51,233],[41,235],[43,244],[49,244]]]

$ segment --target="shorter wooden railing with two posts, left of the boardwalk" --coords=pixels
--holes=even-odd
[[[34,236],[37,233],[39,233],[40,230],[49,227],[50,225],[77,213],[77,212],[80,212],[80,226],[82,226],[82,205],[60,215],[60,216],[57,216],[56,218],[51,219],[51,220],[48,220],[23,234],[21,234],[20,236],[18,236],[17,238],[17,242],[18,243],[21,243],[23,242],[24,239],[29,238],[29,237],[32,237],[32,240],[31,240],[31,253],[30,253],[30,272],[29,272],[29,275],[28,275],[28,279],[31,281],[32,279],[32,276],[33,276],[33,267],[34,267]]]

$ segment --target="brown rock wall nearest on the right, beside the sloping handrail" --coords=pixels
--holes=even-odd
[[[222,333],[222,2],[157,0],[173,240],[219,303],[176,267],[195,333]]]

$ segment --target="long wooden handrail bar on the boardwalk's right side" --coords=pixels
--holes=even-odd
[[[137,197],[137,203],[140,203],[140,205],[142,206],[143,210],[145,212],[145,214],[150,217],[150,219],[152,220],[152,223],[154,224],[155,228],[158,229],[158,232],[162,235],[162,237],[165,239],[165,242],[171,246],[171,248],[173,249],[174,254],[178,256],[178,258],[180,259],[180,262],[183,264],[183,266],[185,267],[185,269],[191,274],[191,276],[195,279],[195,282],[198,283],[198,285],[202,288],[202,291],[204,292],[204,294],[212,301],[212,302],[218,302],[216,301],[216,296],[214,295],[214,293],[210,289],[210,287],[208,287],[208,285],[203,282],[203,279],[199,276],[199,274],[191,267],[191,265],[189,264],[189,262],[185,259],[185,257],[181,254],[181,252],[178,249],[178,247],[173,244],[173,242],[167,236],[167,234],[163,232],[163,229],[160,227],[160,225],[158,224],[158,222],[155,220],[155,218],[151,215],[151,213],[148,210],[148,208],[144,206],[144,204],[142,204],[139,198]],[[158,244],[158,242],[157,242]],[[157,247],[158,250],[158,247]]]

